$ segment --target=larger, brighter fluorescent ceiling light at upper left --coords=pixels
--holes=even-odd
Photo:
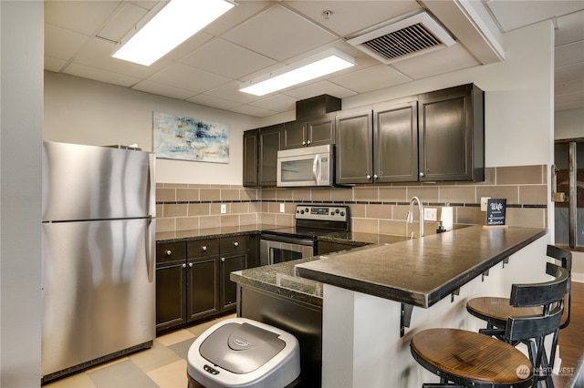
[[[150,66],[234,5],[229,0],[172,0],[113,57]]]

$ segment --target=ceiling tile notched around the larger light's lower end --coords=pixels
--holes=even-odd
[[[120,73],[130,77],[149,77],[171,62],[158,60],[151,66],[142,66],[111,56],[116,44],[106,39],[94,37],[78,53],[75,62],[80,65],[99,67],[104,70]]]

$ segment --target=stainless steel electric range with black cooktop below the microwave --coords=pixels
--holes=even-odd
[[[261,265],[297,260],[317,255],[318,237],[350,231],[349,206],[297,205],[296,226],[263,230],[260,240]]]

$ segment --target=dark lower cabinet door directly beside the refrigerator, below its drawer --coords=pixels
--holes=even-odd
[[[171,261],[156,268],[156,330],[186,322],[186,264]]]

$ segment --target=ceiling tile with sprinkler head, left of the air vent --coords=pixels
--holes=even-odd
[[[355,36],[370,26],[384,25],[398,16],[422,9],[415,0],[287,1],[287,5],[344,37]],[[332,15],[327,18],[323,15],[325,10],[332,11]]]

